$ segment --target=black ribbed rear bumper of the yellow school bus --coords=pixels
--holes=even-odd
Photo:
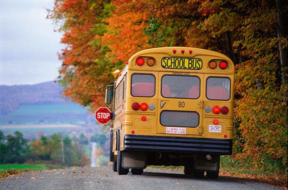
[[[231,155],[231,139],[125,135],[124,150]]]

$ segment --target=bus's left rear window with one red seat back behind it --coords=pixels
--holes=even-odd
[[[155,95],[155,76],[150,74],[133,74],[131,79],[131,95],[152,97]]]

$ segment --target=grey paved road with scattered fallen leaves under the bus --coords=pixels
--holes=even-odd
[[[59,169],[27,172],[0,179],[0,189],[280,189],[235,177],[187,177],[182,171],[146,168],[142,175],[119,176],[111,167]]]

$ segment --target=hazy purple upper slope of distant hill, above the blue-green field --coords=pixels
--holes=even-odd
[[[8,115],[20,105],[62,104],[62,87],[50,81],[35,85],[0,85],[0,116]]]

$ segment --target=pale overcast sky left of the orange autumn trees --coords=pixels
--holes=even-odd
[[[0,0],[0,85],[54,80],[61,61],[61,34],[46,8],[53,0]]]

